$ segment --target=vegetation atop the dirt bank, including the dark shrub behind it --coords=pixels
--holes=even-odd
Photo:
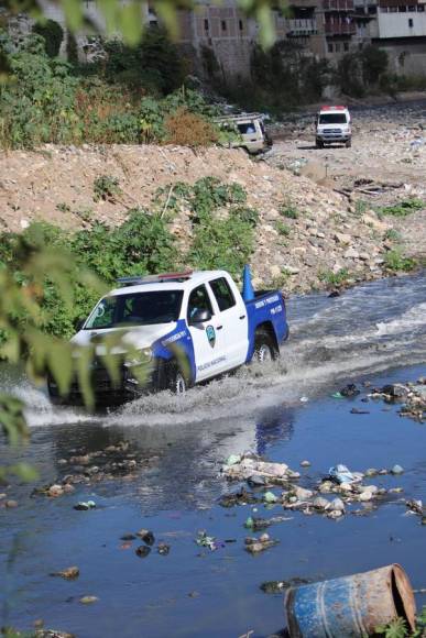
[[[197,146],[218,140],[211,123],[216,110],[199,94],[182,87],[183,72],[176,65],[183,61],[161,30],[150,32],[139,50],[117,43],[109,48],[102,65],[73,66],[50,57],[40,35],[30,35],[15,51],[0,34],[0,57],[11,74],[10,81],[0,85],[0,147],[183,142]],[[172,58],[173,75],[167,75],[163,67]],[[152,61],[149,78],[138,66],[142,59]]]

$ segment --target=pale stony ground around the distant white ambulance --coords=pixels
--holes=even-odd
[[[352,147],[315,147],[312,113],[275,130],[266,161],[343,194],[357,210],[426,201],[426,100],[352,111]],[[426,206],[392,226],[409,254],[426,255]]]

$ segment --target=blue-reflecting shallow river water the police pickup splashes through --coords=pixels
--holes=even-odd
[[[64,474],[72,450],[103,449],[128,441],[150,459],[133,481],[77,485],[57,499],[30,497],[33,486],[12,485],[15,509],[0,509],[0,625],[29,629],[37,618],[79,638],[252,638],[285,626],[283,596],[260,584],[294,576],[326,579],[400,562],[413,585],[426,587],[426,527],[406,514],[406,498],[426,501],[426,429],[397,415],[397,406],[361,403],[368,389],[426,373],[426,274],[358,286],[340,297],[324,294],[288,300],[291,339],[269,369],[244,369],[190,391],[164,393],[109,414],[53,408],[42,391],[4,375],[3,388],[28,404],[32,429],[22,453],[40,471],[37,484]],[[331,394],[348,382],[362,388],[354,399]],[[302,400],[301,400],[302,399]],[[352,407],[368,415],[350,414]],[[310,486],[330,465],[352,470],[403,465],[402,476],[372,482],[403,487],[367,516],[334,521],[288,514],[270,528],[280,544],[258,557],[243,549],[243,522],[253,506],[222,508],[234,490],[219,475],[230,453],[252,450],[302,470]],[[3,450],[0,461],[8,458]],[[76,512],[78,501],[97,508]],[[255,516],[282,515],[280,506]],[[152,530],[171,546],[141,559],[138,541],[124,534]],[[217,551],[195,543],[198,530],[223,542]],[[78,565],[65,581],[51,572]],[[99,600],[83,605],[79,598]],[[419,594],[419,605],[426,603]]]

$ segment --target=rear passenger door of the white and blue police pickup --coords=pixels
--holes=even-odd
[[[227,369],[231,370],[245,362],[249,350],[249,320],[241,295],[234,294],[226,277],[209,282],[215,300],[220,310],[225,331]]]

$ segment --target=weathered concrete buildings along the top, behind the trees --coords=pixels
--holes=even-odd
[[[65,25],[59,4],[46,0],[44,7],[47,18]],[[288,11],[285,14],[273,11],[273,18],[278,40],[295,42],[307,55],[318,59],[337,63],[346,53],[373,43],[387,52],[392,72],[425,75],[425,7],[426,0],[290,0]],[[103,28],[96,0],[86,0],[85,12]],[[222,0],[220,4],[198,0],[195,11],[182,10],[178,19],[179,45],[194,61],[196,69],[216,65],[215,73],[226,81],[250,76],[251,53],[259,26],[237,8],[236,0]],[[148,24],[157,23],[149,1],[143,7],[141,20]],[[30,29],[26,18],[21,20],[19,28],[22,30],[24,23]],[[77,43],[81,61],[90,61],[99,53],[96,38],[84,33],[77,36]]]

